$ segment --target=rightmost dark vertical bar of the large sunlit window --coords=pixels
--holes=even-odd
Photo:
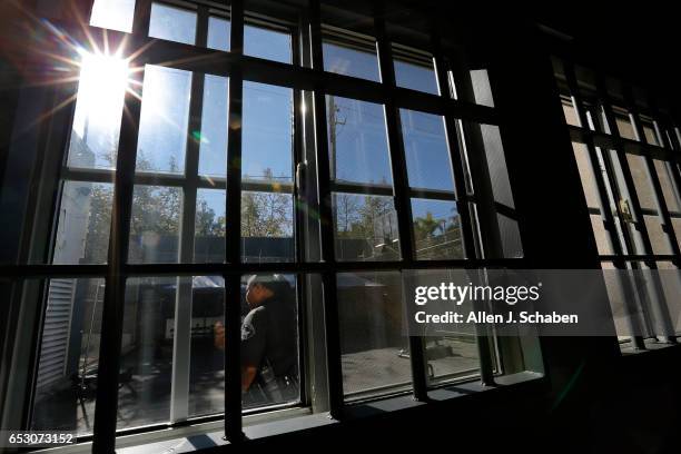
[[[432,29],[434,30],[435,28],[433,27]],[[432,50],[433,60],[435,62],[435,71],[437,75],[437,85],[440,87],[440,95],[448,98],[448,65],[445,62],[440,37],[436,34],[433,34],[432,37]],[[468,204],[468,190],[466,188],[465,171],[463,167],[466,159],[465,150],[463,149],[463,144],[460,140],[457,121],[448,115],[445,116],[445,130],[451,161],[452,166],[454,167],[454,185],[456,187],[456,201],[458,206],[458,214],[461,216],[465,257],[473,258],[476,257],[477,251],[475,247],[474,220],[471,214],[471,205]],[[494,385],[494,362],[492,359],[491,339],[486,332],[478,330],[477,327],[476,334],[481,381],[485,386],[492,386]]]

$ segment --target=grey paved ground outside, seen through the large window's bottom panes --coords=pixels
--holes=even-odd
[[[474,343],[461,339],[431,339],[427,342],[431,381],[446,379],[477,367]],[[405,345],[406,348],[406,345]],[[157,352],[161,358],[171,352]],[[196,361],[190,371],[189,413],[206,415],[224,408],[224,379],[221,352],[206,346],[195,346]],[[118,427],[167,422],[170,414],[170,361],[145,362],[137,354],[124,358],[122,369],[134,371],[129,381],[121,384],[118,399]],[[343,355],[344,389],[348,397],[363,397],[379,389],[409,386],[408,354],[401,347],[378,348]],[[77,430],[91,433],[95,417],[95,395],[76,397],[70,382],[40,399],[34,408],[34,428]]]

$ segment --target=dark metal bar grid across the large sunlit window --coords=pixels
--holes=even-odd
[[[138,0],[135,8],[132,34],[129,48],[136,49],[148,45],[154,39],[147,37],[150,19],[150,0]],[[430,93],[412,93],[409,90],[398,88],[395,83],[394,62],[392,59],[392,45],[385,30],[385,23],[377,20],[376,38],[378,45],[378,59],[382,73],[387,75],[387,81],[384,76],[383,83],[376,86],[374,82],[363,82],[345,76],[329,75],[323,71],[322,57],[322,27],[319,20],[319,3],[313,1],[309,12],[312,18],[312,49],[313,49],[313,70],[300,70],[295,68],[298,63],[294,60],[294,66],[263,61],[253,57],[244,57],[244,4],[241,0],[231,2],[230,18],[230,48],[227,53],[216,55],[216,52],[204,49],[207,39],[207,29],[209,20],[209,9],[206,6],[197,7],[197,47],[188,49],[186,45],[175,43],[171,41],[156,42],[154,50],[141,53],[136,58],[136,65],[144,67],[145,65],[160,65],[165,61],[174,61],[172,67],[177,69],[186,69],[189,71],[201,71],[218,76],[229,77],[229,134],[228,134],[228,168],[227,180],[219,179],[209,182],[205,178],[198,176],[198,144],[188,139],[186,176],[171,175],[145,175],[136,172],[136,154],[138,140],[138,125],[141,110],[141,100],[131,93],[126,93],[125,111],[122,116],[122,125],[120,129],[120,139],[118,146],[117,169],[116,170],[75,170],[63,168],[62,179],[76,179],[83,181],[115,181],[114,193],[114,210],[111,231],[109,240],[109,253],[107,265],[19,265],[3,267],[8,276],[106,276],[106,294],[103,303],[102,318],[108,320],[103,324],[101,333],[100,353],[102,357],[107,357],[102,362],[99,371],[99,385],[97,392],[97,407],[95,421],[97,430],[93,434],[93,450],[109,452],[114,450],[116,438],[116,407],[117,407],[117,386],[118,386],[118,369],[120,365],[120,336],[122,333],[122,310],[125,305],[125,286],[126,280],[132,276],[185,276],[185,275],[223,275],[225,278],[225,307],[226,307],[226,339],[225,352],[225,369],[226,369],[226,387],[225,387],[225,431],[227,438],[236,442],[243,437],[241,427],[241,401],[240,401],[240,376],[239,376],[239,313],[238,305],[227,304],[229,300],[237,300],[239,295],[240,275],[249,272],[320,272],[324,282],[324,307],[325,307],[325,327],[327,335],[327,358],[329,374],[329,403],[332,415],[335,417],[343,416],[343,376],[340,372],[340,348],[338,343],[338,310],[336,302],[335,276],[337,272],[344,269],[422,269],[436,267],[485,267],[485,266],[506,266],[522,267],[519,260],[507,260],[501,254],[495,254],[500,250],[499,234],[493,235],[495,223],[482,218],[480,226],[475,226],[471,211],[477,211],[476,206],[481,209],[492,208],[492,215],[495,213],[495,204],[491,200],[491,189],[488,181],[485,181],[483,176],[486,176],[484,165],[477,159],[471,159],[471,171],[474,174],[473,185],[475,191],[472,194],[468,185],[467,170],[463,167],[463,162],[467,162],[465,156],[466,142],[475,145],[474,134],[471,131],[468,120],[480,121],[490,125],[496,125],[497,120],[494,111],[491,108],[471,105],[466,101],[450,99],[448,80],[451,79],[447,68],[450,62],[446,61],[444,52],[440,49],[435,40],[433,46],[433,58],[435,62],[435,71],[437,73],[437,85],[442,95]],[[117,32],[109,33],[116,36]],[[122,33],[120,33],[122,36]],[[102,39],[101,34],[95,33],[96,39]],[[297,34],[293,34],[293,48],[298,49],[296,39]],[[297,58],[298,52],[293,52]],[[199,57],[195,61],[178,57]],[[201,63],[200,57],[210,56],[214,62],[210,66]],[[223,65],[224,63],[224,65]],[[266,69],[266,70],[264,70]],[[455,78],[466,83],[466,77],[461,72],[455,65],[451,68],[452,72],[456,72]],[[199,72],[196,72],[199,73]],[[136,79],[136,83],[141,87],[144,83],[144,72],[137,72],[131,76]],[[324,96],[328,93],[338,96],[351,96],[356,99],[373,100],[385,106],[386,122],[388,129],[389,152],[392,156],[393,175],[401,175],[398,182],[394,184],[394,194],[391,196],[396,199],[399,233],[403,245],[403,259],[398,261],[386,263],[346,263],[340,264],[335,259],[334,241],[332,227],[328,224],[322,228],[322,257],[324,263],[303,263],[304,250],[299,241],[296,248],[298,253],[297,264],[241,264],[240,257],[240,226],[239,223],[228,223],[226,231],[226,263],[225,264],[191,264],[193,261],[193,245],[194,245],[194,210],[196,208],[196,191],[198,188],[225,188],[227,194],[240,194],[247,190],[247,186],[241,184],[240,169],[240,152],[241,152],[241,98],[243,98],[243,81],[254,80],[265,83],[276,83],[295,89],[294,102],[299,103],[300,89],[314,89],[314,112],[315,112],[315,132],[317,137],[317,158],[319,160],[319,193],[324,200],[320,204],[320,213],[323,219],[332,219],[333,211],[330,209],[330,194],[336,189],[348,189],[342,186],[329,184],[328,177],[328,154],[326,150],[326,140],[320,140],[326,136],[326,118]],[[193,77],[191,83],[191,105],[190,105],[190,129],[200,130],[200,112],[203,103],[203,77]],[[336,83],[338,82],[338,83]],[[375,90],[375,88],[377,88]],[[460,89],[461,90],[461,89]],[[463,87],[465,90],[465,86]],[[368,96],[366,93],[369,93]],[[368,99],[367,99],[368,98]],[[296,112],[299,111],[299,106],[296,107]],[[445,120],[446,139],[451,152],[451,162],[454,171],[455,193],[442,193],[435,190],[412,189],[406,185],[406,167],[404,166],[404,146],[402,144],[402,130],[399,127],[398,109],[414,109],[428,114],[440,115]],[[461,120],[461,119],[465,120]],[[299,135],[296,135],[298,137]],[[299,146],[296,146],[296,152],[299,151]],[[299,161],[299,157],[296,158]],[[325,175],[326,174],[326,175]],[[180,263],[178,264],[128,264],[128,246],[130,234],[130,218],[132,209],[132,193],[135,185],[138,184],[155,184],[171,187],[181,187],[185,191],[182,201],[182,239],[180,244]],[[217,184],[217,186],[216,186]],[[485,185],[487,184],[487,186]],[[270,186],[254,186],[253,189],[272,190]],[[298,195],[299,187],[294,186],[292,190]],[[362,193],[357,188],[354,189],[357,194],[366,194],[366,188],[363,187]],[[386,194],[388,195],[388,194]],[[466,259],[453,260],[430,260],[418,261],[414,259],[412,241],[412,217],[411,217],[411,199],[425,198],[437,200],[454,200],[461,204],[460,215],[462,217],[464,248],[466,250]],[[240,197],[227,197],[226,213],[228,219],[239,219],[240,214]],[[297,211],[296,211],[297,213]],[[483,258],[483,248],[475,234],[480,228],[484,235],[484,250],[487,253]],[[297,235],[297,234],[296,234]],[[186,245],[186,246],[185,246]],[[188,257],[188,258],[187,258]],[[299,276],[299,275],[298,275]],[[485,384],[493,383],[493,366],[490,358],[490,347],[487,337],[481,337],[482,342],[478,345],[481,374]],[[414,394],[418,399],[426,396],[427,385],[425,383],[425,371],[423,361],[422,339],[412,336],[412,372],[414,378]],[[303,376],[302,376],[303,378]],[[149,430],[147,427],[146,430]],[[134,433],[127,431],[126,433]]]

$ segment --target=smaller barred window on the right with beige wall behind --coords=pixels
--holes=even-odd
[[[681,177],[669,114],[634,96],[635,87],[566,60],[553,63],[603,269],[678,269]],[[652,276],[653,284],[635,288],[608,283],[623,352],[672,337],[655,330],[670,326],[673,306]],[[618,317],[622,302],[640,317]]]

